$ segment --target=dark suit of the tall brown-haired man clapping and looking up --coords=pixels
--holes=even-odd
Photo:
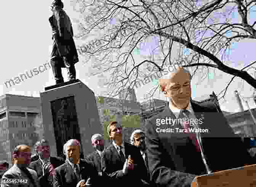
[[[131,155],[134,160],[134,170],[127,175],[123,174],[122,170],[125,162],[121,159],[114,145],[110,145],[102,152],[102,171],[108,174],[114,180],[112,184],[117,186],[120,186],[120,184],[145,185],[141,179],[147,180],[147,173],[139,148],[126,142],[124,146],[126,159]]]

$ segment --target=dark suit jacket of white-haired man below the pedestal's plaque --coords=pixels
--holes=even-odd
[[[108,182],[106,181],[106,176],[98,175],[95,165],[88,159],[80,159],[79,162],[81,178],[85,181],[90,178],[92,186],[101,186]],[[67,161],[55,169],[53,177],[54,187],[76,187],[78,182],[72,166]]]

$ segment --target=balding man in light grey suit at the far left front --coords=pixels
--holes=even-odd
[[[3,174],[1,187],[39,187],[37,173],[27,168],[31,150],[27,145],[19,145],[13,151],[14,165]]]

